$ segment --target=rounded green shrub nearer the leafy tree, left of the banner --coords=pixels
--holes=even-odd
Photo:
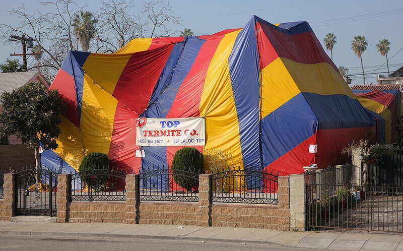
[[[108,180],[109,159],[104,153],[90,153],[81,161],[79,172],[82,182],[91,188],[99,188]]]

